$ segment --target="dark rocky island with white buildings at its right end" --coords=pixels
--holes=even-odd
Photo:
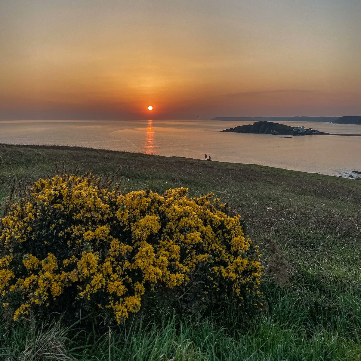
[[[258,133],[258,134],[274,134],[274,135],[311,135],[311,134],[327,134],[321,133],[319,130],[305,127],[291,127],[280,123],[273,122],[254,122],[252,125],[240,125],[235,128],[222,130],[222,132],[234,133]]]

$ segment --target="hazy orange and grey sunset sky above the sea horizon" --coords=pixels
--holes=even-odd
[[[360,115],[360,16],[360,0],[1,0],[0,119]]]

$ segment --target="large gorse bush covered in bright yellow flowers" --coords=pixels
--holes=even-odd
[[[198,301],[261,308],[257,246],[212,194],[127,194],[100,179],[40,179],[0,230],[0,298],[14,320],[81,307],[119,323],[149,295],[197,285]]]

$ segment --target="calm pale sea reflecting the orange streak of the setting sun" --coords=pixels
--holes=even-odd
[[[0,143],[56,144],[163,156],[260,164],[347,176],[361,170],[361,137],[220,132],[249,122],[194,120],[0,121]],[[361,125],[287,122],[337,134],[361,134]]]

